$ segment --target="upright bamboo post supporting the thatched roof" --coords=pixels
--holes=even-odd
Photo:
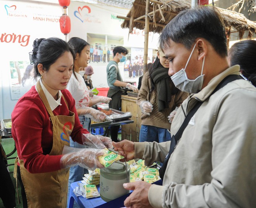
[[[145,74],[146,69],[147,69],[147,51],[149,48],[149,16],[148,16],[148,14],[149,14],[149,0],[146,0],[143,74]]]

